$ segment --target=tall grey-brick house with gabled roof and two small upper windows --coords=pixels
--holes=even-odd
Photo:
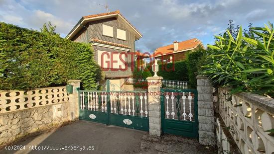
[[[67,35],[75,42],[90,43],[96,62],[110,79],[114,90],[132,76],[135,64],[135,41],[140,32],[119,10],[83,16]]]

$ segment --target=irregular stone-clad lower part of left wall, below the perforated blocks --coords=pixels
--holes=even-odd
[[[69,103],[62,103],[62,116],[53,118],[53,106],[42,106],[0,114],[0,146],[39,130],[69,121]]]

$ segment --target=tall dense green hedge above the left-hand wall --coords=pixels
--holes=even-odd
[[[0,89],[29,90],[81,79],[85,89],[102,77],[88,44],[0,22]]]

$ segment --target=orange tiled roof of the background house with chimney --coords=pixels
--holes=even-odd
[[[177,41],[174,41],[174,43],[175,42],[177,42]],[[178,42],[178,50],[175,52],[192,50],[192,49],[196,48],[200,43],[202,43],[202,42],[200,40],[198,40],[197,38]],[[203,47],[203,45],[202,45],[202,47]],[[170,44],[170,45],[159,47],[158,49],[156,49],[154,51],[154,55],[160,56],[160,54],[164,55],[164,54],[169,54],[172,52],[174,52],[174,45]]]

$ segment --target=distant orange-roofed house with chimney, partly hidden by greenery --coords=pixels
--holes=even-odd
[[[197,38],[182,42],[174,41],[173,44],[157,48],[153,53],[153,57],[162,61],[175,62],[184,60],[189,51],[199,48],[204,49],[204,45]]]

